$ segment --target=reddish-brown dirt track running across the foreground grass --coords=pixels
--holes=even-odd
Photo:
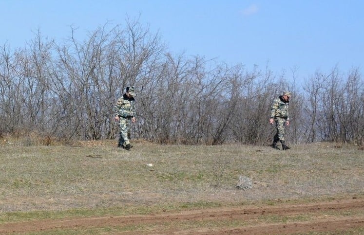
[[[340,212],[350,213],[340,213]],[[348,229],[364,228],[364,199],[334,200],[329,202],[309,203],[300,205],[281,206],[239,206],[224,207],[206,210],[188,210],[179,213],[164,213],[157,215],[123,216],[123,217],[91,217],[72,218],[62,220],[35,220],[26,222],[6,223],[0,225],[0,234],[26,233],[37,231],[50,231],[53,229],[82,230],[87,228],[101,228],[107,226],[133,226],[154,225],[152,231],[130,231],[119,234],[182,234],[182,235],[268,235],[268,234],[294,234],[309,232],[342,232]],[[305,222],[261,222],[261,216],[305,216]],[[345,215],[345,216],[342,216]],[[350,216],[354,215],[354,216]],[[168,226],[169,223],[183,221],[227,221],[241,219],[247,222],[246,226],[226,227],[199,227],[193,229]],[[167,227],[164,227],[166,226]],[[158,225],[158,226],[155,226]],[[154,229],[155,228],[155,229]],[[173,228],[173,229],[171,229]]]

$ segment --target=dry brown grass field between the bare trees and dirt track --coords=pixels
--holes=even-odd
[[[115,145],[90,141],[44,146],[2,140],[0,210],[274,203],[363,195],[363,151],[351,145],[295,145],[287,151],[146,142],[134,142],[126,151]],[[253,188],[236,189],[239,175],[249,177]]]

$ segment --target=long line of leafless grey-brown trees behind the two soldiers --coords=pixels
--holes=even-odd
[[[271,102],[293,92],[288,140],[359,142],[364,136],[364,82],[359,68],[316,71],[303,84],[294,73],[168,52],[158,33],[136,21],[108,24],[77,41],[38,32],[25,48],[0,47],[0,133],[37,133],[65,141],[117,137],[116,99],[137,90],[134,138],[155,143],[271,142]],[[290,81],[290,82],[288,82]]]

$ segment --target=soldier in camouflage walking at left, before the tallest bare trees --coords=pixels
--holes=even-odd
[[[126,150],[130,150],[132,147],[128,139],[130,122],[134,123],[136,121],[134,96],[134,87],[127,87],[125,94],[117,100],[114,108],[115,121],[119,122],[120,129],[120,137],[117,146],[125,148]]]

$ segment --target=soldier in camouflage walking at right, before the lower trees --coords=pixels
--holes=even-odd
[[[277,146],[277,142],[282,143],[282,149],[286,150],[290,147],[285,143],[285,125],[289,125],[289,117],[288,117],[288,104],[289,97],[291,97],[291,92],[285,91],[283,95],[280,95],[278,98],[275,98],[273,101],[273,105],[270,109],[270,118],[269,123],[275,125],[277,127],[277,132],[273,138],[272,147],[275,149],[279,149]]]

